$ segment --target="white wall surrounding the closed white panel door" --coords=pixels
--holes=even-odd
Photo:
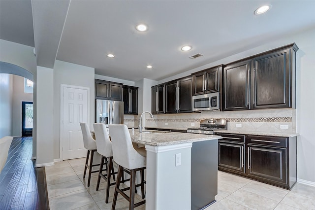
[[[54,159],[60,158],[60,85],[90,88],[90,129],[94,123],[94,68],[56,60],[54,66]],[[93,129],[92,129],[93,130]]]

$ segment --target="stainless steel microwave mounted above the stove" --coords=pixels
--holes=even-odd
[[[220,110],[220,93],[208,93],[192,97],[192,111]]]

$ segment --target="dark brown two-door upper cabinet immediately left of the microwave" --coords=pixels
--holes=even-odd
[[[192,77],[188,76],[165,84],[165,113],[192,111]]]

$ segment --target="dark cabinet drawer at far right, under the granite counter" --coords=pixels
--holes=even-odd
[[[248,144],[277,146],[277,147],[286,147],[287,146],[287,138],[248,136],[247,143]]]

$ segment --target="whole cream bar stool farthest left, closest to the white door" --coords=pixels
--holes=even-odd
[[[83,145],[84,145],[84,148],[86,148],[88,150],[87,159],[85,161],[85,166],[84,166],[83,178],[85,178],[85,174],[87,172],[87,169],[89,169],[89,177],[88,177],[88,187],[89,187],[90,181],[91,181],[91,174],[98,172],[98,170],[92,171],[92,168],[94,166],[99,166],[99,164],[93,165],[93,156],[94,156],[94,153],[97,152],[96,151],[96,141],[92,138],[90,128],[89,128],[87,123],[80,123],[80,126],[81,126],[82,135],[83,135]],[[91,152],[90,165],[88,165],[90,152]]]

